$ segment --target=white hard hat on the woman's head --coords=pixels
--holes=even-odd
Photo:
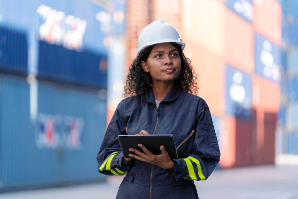
[[[182,42],[174,26],[165,23],[163,20],[155,20],[141,31],[138,39],[137,55],[147,46],[166,42],[178,43],[181,45],[182,50],[185,47],[185,43]]]

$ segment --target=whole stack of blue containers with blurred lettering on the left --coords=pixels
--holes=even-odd
[[[110,23],[98,2],[1,2],[0,191],[105,179]]]

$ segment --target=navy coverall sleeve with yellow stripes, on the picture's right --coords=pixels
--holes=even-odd
[[[220,160],[219,145],[207,105],[196,113],[195,129],[191,154],[184,159],[173,159],[172,176],[176,181],[205,180]]]

